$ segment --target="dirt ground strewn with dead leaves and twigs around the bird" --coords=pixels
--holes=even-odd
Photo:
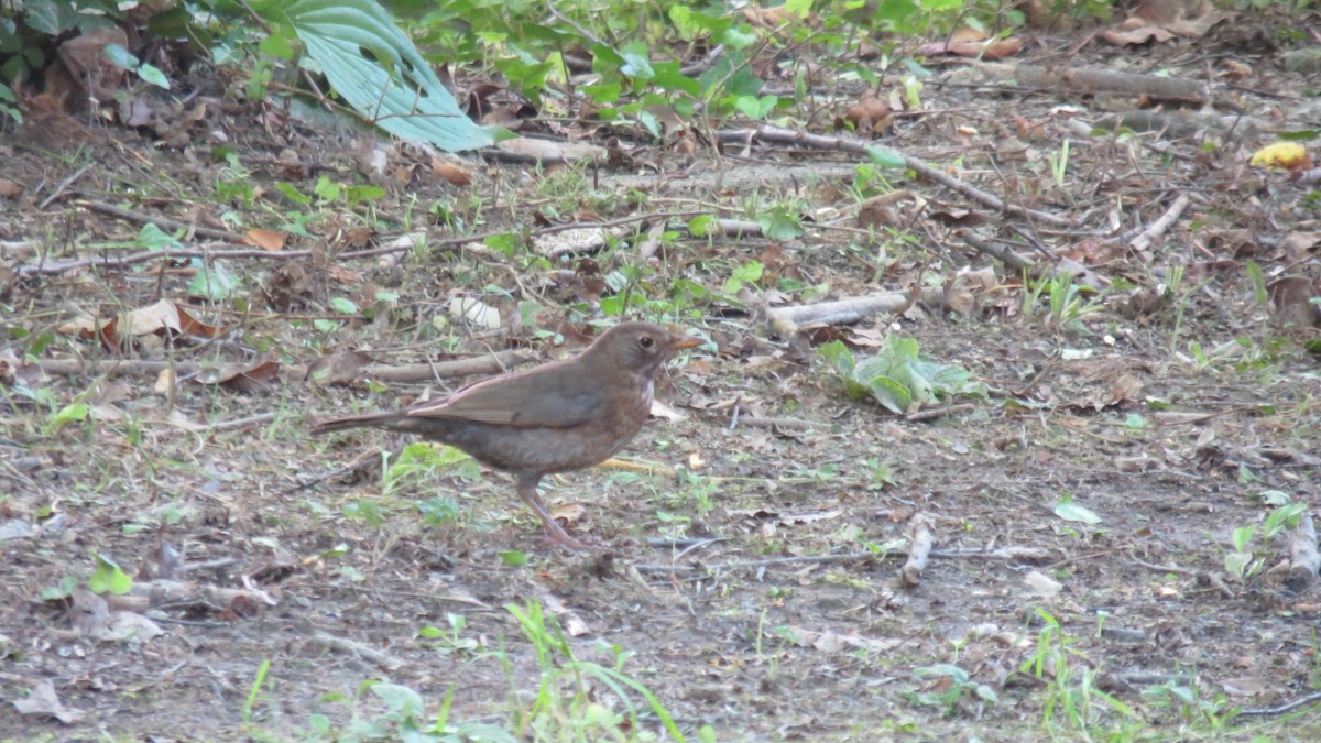
[[[450,724],[604,739],[584,721],[627,709],[597,666],[649,689],[690,739],[1321,738],[1316,701],[1280,709],[1321,686],[1316,574],[1287,570],[1306,539],[1263,537],[1275,508],[1321,496],[1321,375],[1305,346],[1318,337],[1316,189],[1247,165],[1272,131],[1321,124],[1316,78],[1283,71],[1281,53],[1221,26],[1197,44],[1094,44],[1074,59],[1199,81],[1210,70],[1221,106],[1185,107],[1192,134],[1079,136],[1070,118],[1099,128],[1132,102],[992,90],[938,69],[931,114],[878,140],[1066,227],[888,171],[909,193],[868,230],[855,189],[865,159],[774,141],[723,157],[639,145],[633,161],[655,169],[473,159],[468,186],[421,168],[367,206],[303,206],[277,184],[369,180],[359,135],[269,126],[267,110],[236,104],[214,106],[182,149],[110,130],[54,153],[11,132],[0,175],[28,190],[7,202],[0,234],[41,255],[7,242],[0,260],[0,739],[392,738],[402,713],[370,681],[419,694],[421,721],[452,694]],[[1226,77],[1227,61],[1247,71]],[[1207,127],[1234,110],[1246,118]],[[232,164],[207,155],[214,132],[235,143],[256,198],[217,196]],[[391,168],[419,161],[386,151]],[[289,160],[310,167],[279,165]],[[1120,239],[1180,197],[1149,247]],[[141,250],[140,222],[92,204],[238,233],[297,222],[306,237],[223,259],[45,270]],[[428,223],[432,204],[461,225]],[[511,218],[544,225],[530,213],[754,218],[786,204],[801,237],[699,238],[675,218],[659,249],[633,223],[610,247],[550,259],[439,242],[343,256],[424,225],[443,241]],[[978,239],[1046,274],[1075,267],[1102,290],[1081,295],[1095,311],[1025,301],[1022,271]],[[753,260],[764,274],[727,287]],[[234,299],[190,297],[205,264],[238,279]],[[708,342],[671,365],[658,385],[667,407],[626,461],[543,484],[608,557],[550,546],[506,475],[391,472],[411,439],[309,435],[313,420],[480,378],[373,369],[580,349],[579,333],[617,321],[601,307],[621,276],[637,299],[627,316]],[[1297,286],[1301,304],[1281,288]],[[786,334],[768,323],[768,307],[914,287],[948,288],[951,301]],[[87,320],[161,299],[223,332],[198,338],[181,321],[169,342],[159,325],[98,341]],[[499,324],[454,315],[460,300]],[[867,356],[886,334],[968,370],[984,394],[894,415],[851,399],[812,348],[843,338]],[[347,350],[373,366],[332,356]],[[347,370],[306,378],[318,358]],[[114,360],[136,365],[110,372]],[[235,364],[250,374],[209,372]],[[923,529],[925,570],[901,572]],[[1236,551],[1254,561],[1242,575],[1227,567]],[[96,555],[133,591],[89,591],[112,574]],[[534,641],[538,624],[510,606],[563,632]],[[572,702],[577,674],[587,706]],[[626,697],[638,717],[622,735],[663,738],[645,697]],[[1236,709],[1255,714],[1231,719]]]

